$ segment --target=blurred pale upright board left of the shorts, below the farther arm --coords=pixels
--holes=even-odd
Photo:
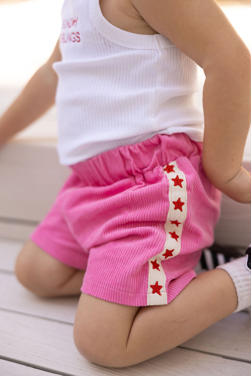
[[[54,146],[41,144],[6,144],[0,161],[0,217],[41,221],[70,168],[59,165]]]

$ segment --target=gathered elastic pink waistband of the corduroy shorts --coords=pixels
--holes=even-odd
[[[119,146],[70,167],[86,185],[110,185],[118,180],[145,174],[165,166],[178,157],[202,154],[202,143],[192,141],[185,133],[157,133],[133,145]]]

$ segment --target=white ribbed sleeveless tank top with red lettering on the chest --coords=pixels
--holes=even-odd
[[[197,64],[161,34],[131,33],[99,0],[65,0],[56,107],[59,163],[72,165],[157,133],[202,141]]]

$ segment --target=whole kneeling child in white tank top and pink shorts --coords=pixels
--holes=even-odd
[[[0,139],[46,111],[58,82],[59,162],[71,174],[15,272],[43,297],[81,292],[73,335],[90,361],[137,364],[251,305],[248,256],[193,270],[221,191],[251,203],[250,67],[214,0],[65,0],[55,50]]]

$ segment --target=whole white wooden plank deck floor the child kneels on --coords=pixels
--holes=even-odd
[[[237,312],[166,353],[131,367],[107,368],[73,343],[78,297],[40,298],[14,274],[23,241],[0,239],[1,376],[250,376],[251,315]]]

